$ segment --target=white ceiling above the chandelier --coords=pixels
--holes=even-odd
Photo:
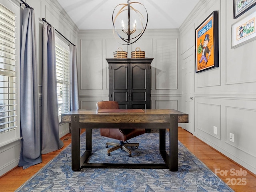
[[[127,0],[57,0],[80,30],[112,29],[112,13]],[[179,28],[200,0],[134,0],[148,12],[147,29]]]

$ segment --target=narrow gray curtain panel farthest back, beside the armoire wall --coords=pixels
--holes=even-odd
[[[76,46],[70,44],[70,110],[79,109],[78,75],[77,75],[77,54]],[[71,124],[69,125],[71,133]]]

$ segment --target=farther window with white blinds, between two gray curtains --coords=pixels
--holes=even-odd
[[[70,67],[69,47],[56,38],[56,76],[58,92],[58,114],[70,111]],[[60,119],[60,118],[59,118]]]

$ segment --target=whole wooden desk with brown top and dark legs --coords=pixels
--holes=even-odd
[[[81,168],[168,168],[178,170],[178,123],[188,123],[188,114],[172,109],[146,109],[144,112],[98,112],[75,110],[62,114],[63,123],[72,127],[72,170]],[[87,163],[92,153],[92,129],[120,128],[131,124],[132,128],[159,129],[159,151],[165,164],[110,164]],[[80,128],[86,128],[86,151],[80,157]],[[170,151],[166,152],[166,129],[170,129]]]

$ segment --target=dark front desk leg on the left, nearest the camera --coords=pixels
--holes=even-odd
[[[80,129],[79,129],[79,115],[71,116],[71,158],[72,170],[80,170]]]

